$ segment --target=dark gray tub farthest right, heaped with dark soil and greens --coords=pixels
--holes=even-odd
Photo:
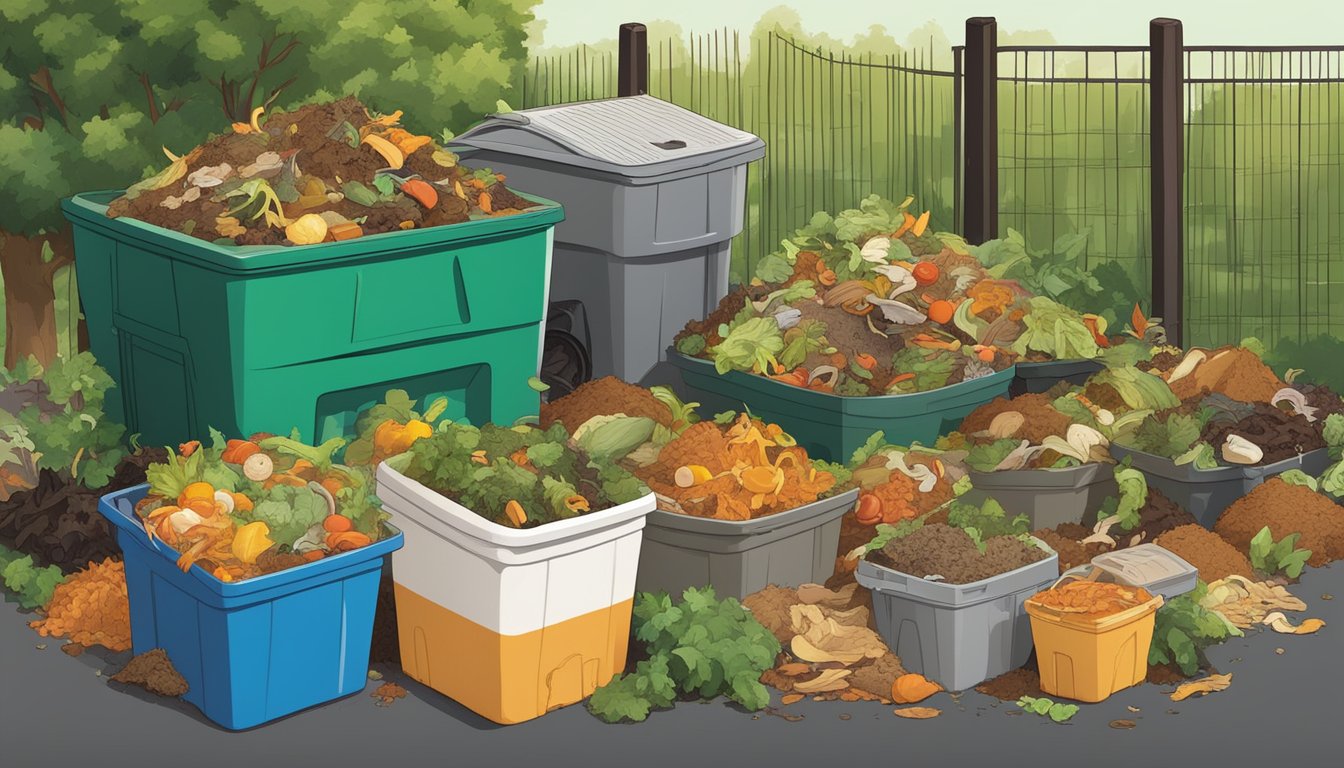
[[[1110,455],[1117,461],[1124,461],[1128,456],[1130,464],[1148,476],[1149,486],[1195,515],[1195,519],[1206,529],[1212,529],[1223,510],[1232,506],[1236,499],[1250,494],[1267,477],[1282,475],[1289,469],[1301,469],[1316,477],[1325,472],[1331,464],[1327,448],[1308,451],[1259,467],[1219,467],[1216,469],[1196,469],[1192,464],[1177,467],[1171,459],[1116,444],[1111,444]]]

